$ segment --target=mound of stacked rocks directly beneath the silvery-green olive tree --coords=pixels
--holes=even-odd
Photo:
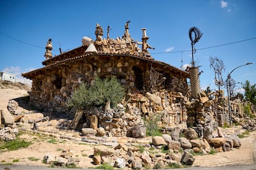
[[[136,127],[142,127],[144,121],[141,117],[139,109],[134,108],[130,104],[126,104],[126,107],[122,104],[117,104],[115,109],[94,109],[85,113],[85,117],[89,119],[82,125],[82,133],[85,136],[90,135],[108,135],[109,137],[124,137],[132,136],[139,138],[145,137],[146,132],[144,129],[138,129],[134,131]],[[143,132],[141,132],[143,130]],[[134,132],[134,133],[133,133]]]

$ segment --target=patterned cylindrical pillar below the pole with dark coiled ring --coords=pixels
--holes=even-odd
[[[200,93],[200,80],[198,75],[198,67],[190,68],[190,85],[191,85],[192,97],[198,98],[198,93]]]

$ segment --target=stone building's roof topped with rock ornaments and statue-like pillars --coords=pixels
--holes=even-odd
[[[152,48],[147,43],[149,37],[147,36],[146,28],[142,28],[142,42],[138,42],[137,40],[134,41],[129,34],[129,22],[126,22],[125,32],[122,38],[117,37],[116,39],[109,38],[109,27],[107,38],[103,39],[103,28],[97,23],[95,29],[95,41],[85,36],[82,39],[82,46],[54,57],[52,57],[51,54],[51,49],[53,48],[51,45],[51,39],[49,39],[48,43],[46,44],[46,60],[42,62],[45,67],[41,67],[40,69],[24,73],[22,74],[22,76],[30,79],[33,77],[32,75],[39,74],[40,72],[45,72],[45,70],[48,69],[53,69],[53,67],[60,64],[65,64],[69,61],[74,61],[90,56],[129,56],[137,59],[147,60],[157,65],[166,66],[169,69],[174,70],[175,72],[181,72],[181,74],[183,74],[185,77],[189,77],[188,72],[153,59],[147,49],[155,48]],[[138,45],[142,45],[142,48],[139,48]]]

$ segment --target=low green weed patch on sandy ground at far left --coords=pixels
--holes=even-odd
[[[25,140],[20,140],[17,138],[12,141],[4,142],[4,144],[0,146],[0,149],[7,149],[9,151],[19,150],[20,148],[27,148],[31,144],[32,142],[26,142]]]

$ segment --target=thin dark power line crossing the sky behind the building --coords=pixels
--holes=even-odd
[[[12,36],[9,36],[9,35],[7,35],[6,33],[3,33],[3,32],[1,32],[1,31],[0,31],[0,33],[1,33],[2,35],[5,35],[5,36],[7,36],[7,37],[13,39],[13,40],[19,41],[20,43],[23,43],[23,44],[25,44],[25,45],[30,45],[30,46],[34,46],[34,47],[36,47],[36,48],[45,49],[44,47],[37,46],[37,45],[32,45],[32,44],[27,43],[27,42],[25,42],[25,41],[22,41],[22,40],[19,40],[19,39],[17,39],[17,38],[14,38],[14,37],[12,37]],[[234,41],[234,42],[226,43],[226,44],[223,44],[223,45],[215,45],[215,46],[208,46],[208,47],[205,47],[205,48],[198,48],[197,51],[198,51],[198,50],[203,50],[203,49],[209,49],[209,48],[216,48],[216,47],[219,47],[219,46],[232,45],[232,44],[241,43],[241,42],[244,42],[244,41],[249,41],[249,40],[254,40],[254,39],[256,39],[256,37],[254,37],[254,38],[249,38],[249,39],[245,39],[245,40],[240,40],[240,41]],[[58,51],[58,50],[53,49],[53,51]],[[191,51],[191,50],[190,50],[190,49],[187,49],[187,50],[182,50],[182,51],[169,51],[169,52],[159,52],[159,53],[151,53],[151,54],[184,53],[184,52],[189,52],[189,51]]]

